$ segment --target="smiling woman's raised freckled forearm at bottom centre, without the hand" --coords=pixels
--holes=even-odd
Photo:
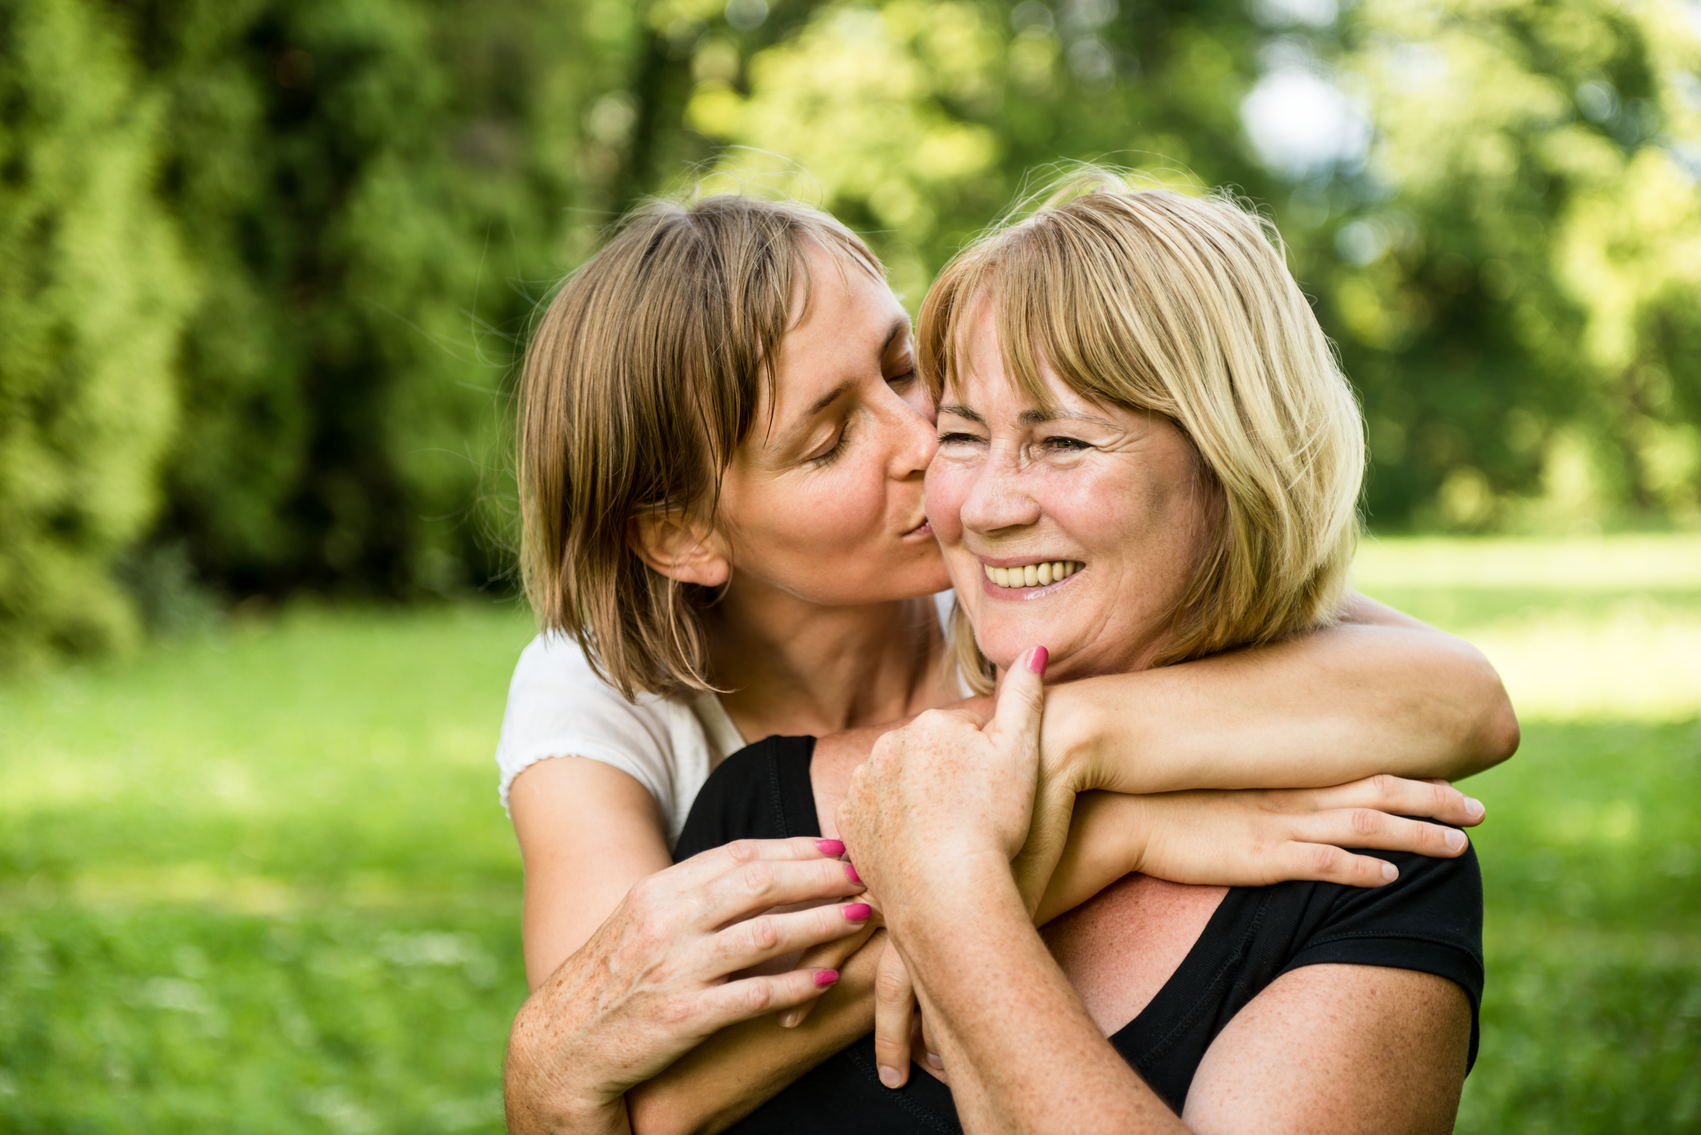
[[[1184,1130],[1094,1026],[1029,924],[1007,864],[988,861],[973,878],[900,900],[893,914],[964,1128]]]

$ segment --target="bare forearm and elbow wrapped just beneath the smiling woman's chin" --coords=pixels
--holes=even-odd
[[[1053,686],[1041,747],[1078,788],[1317,788],[1376,773],[1470,776],[1516,750],[1517,720],[1473,647],[1390,613]]]

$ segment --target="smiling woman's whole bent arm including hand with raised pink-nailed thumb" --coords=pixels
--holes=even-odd
[[[1087,1016],[1010,873],[1039,783],[1039,682],[1010,677],[987,725],[924,715],[883,739],[840,812],[964,1126],[1449,1130],[1470,1026],[1463,992],[1373,967],[1284,975],[1211,1047],[1186,1121],[1163,1106]]]

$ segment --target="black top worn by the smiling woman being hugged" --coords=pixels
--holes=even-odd
[[[703,786],[674,859],[733,839],[820,836],[810,788],[813,737],[769,737],[730,756]],[[1199,941],[1140,1016],[1111,1036],[1123,1058],[1180,1113],[1206,1048],[1266,985],[1305,965],[1381,965],[1436,973],[1471,1001],[1483,990],[1483,888],[1476,849],[1458,859],[1380,851],[1400,868],[1386,887],[1232,887]],[[730,1128],[737,1135],[961,1132],[951,1089],[917,1072],[893,1091],[869,1033]]]

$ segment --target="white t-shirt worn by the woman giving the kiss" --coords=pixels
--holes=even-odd
[[[946,630],[953,599],[949,590],[934,596]],[[507,808],[514,778],[549,757],[602,761],[650,790],[672,847],[703,781],[747,744],[716,694],[638,694],[636,703],[626,701],[597,677],[575,640],[539,635],[521,653],[509,686],[497,742],[498,793]]]

